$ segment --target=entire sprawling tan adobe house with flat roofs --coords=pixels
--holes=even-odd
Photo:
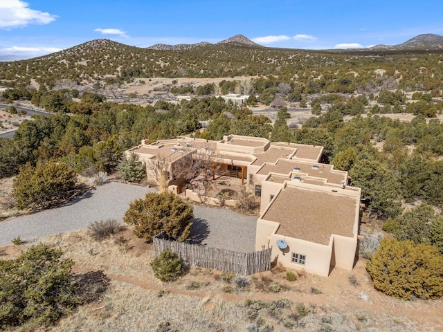
[[[140,156],[148,178],[156,178],[156,169],[163,167],[176,194],[186,189],[177,167],[208,158],[208,165],[242,179],[260,196],[256,250],[272,248],[284,266],[321,276],[334,266],[352,270],[361,190],[347,186],[347,172],[320,163],[323,147],[229,135],[220,141],[142,140],[125,153]]]

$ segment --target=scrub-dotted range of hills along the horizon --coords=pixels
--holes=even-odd
[[[269,48],[255,44],[243,35],[235,35],[217,44],[201,42],[175,46],[156,44],[139,48],[95,39],[43,57],[15,62],[0,62],[0,85],[26,86],[33,80],[52,89],[60,80],[75,84],[121,84],[134,77],[235,77],[284,75],[314,67],[385,62],[383,55],[443,52],[443,37],[420,35],[398,46],[375,46],[349,50],[297,50]],[[338,66],[338,67],[337,67]],[[337,67],[337,68],[335,68]],[[310,74],[309,74],[310,75]]]

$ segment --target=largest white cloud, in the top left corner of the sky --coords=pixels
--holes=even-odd
[[[22,0],[0,0],[0,28],[10,29],[28,24],[49,24],[55,21],[55,15],[28,8]]]

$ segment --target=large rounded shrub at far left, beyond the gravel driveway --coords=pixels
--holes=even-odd
[[[41,209],[72,195],[77,176],[63,163],[29,163],[20,167],[12,185],[19,209]]]

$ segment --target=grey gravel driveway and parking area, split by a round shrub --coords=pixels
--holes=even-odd
[[[154,189],[111,182],[96,187],[84,196],[61,208],[46,210],[0,221],[0,246],[12,239],[24,241],[48,237],[63,232],[82,230],[93,221],[121,220],[129,203],[141,199]],[[255,243],[256,216],[195,205],[192,242],[230,250],[251,251]]]

